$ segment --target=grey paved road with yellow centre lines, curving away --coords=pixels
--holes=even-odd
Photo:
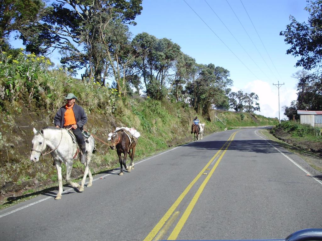
[[[1,210],[0,240],[276,239],[321,228],[317,173],[258,130],[214,133],[123,176],[99,174],[82,193],[64,187],[62,200],[50,192]]]

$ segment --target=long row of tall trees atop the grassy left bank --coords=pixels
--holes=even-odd
[[[2,4],[2,5],[1,5]],[[59,50],[69,73],[81,70],[81,80],[117,89],[122,101],[128,94],[155,100],[169,99],[209,115],[212,108],[259,111],[255,93],[233,101],[230,71],[198,64],[167,38],[146,32],[132,37],[129,25],[141,13],[142,0],[4,0],[0,3],[0,37],[8,41],[18,31],[25,51],[35,56]],[[10,9],[10,11],[8,11]],[[5,46],[1,44],[1,47]]]

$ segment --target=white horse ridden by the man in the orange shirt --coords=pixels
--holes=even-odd
[[[71,169],[73,166],[73,159],[77,156],[77,144],[73,143],[68,130],[47,126],[40,131],[33,128],[33,133],[35,136],[32,140],[30,161],[37,162],[39,161],[40,155],[46,155],[48,153],[50,153],[54,159],[59,183],[59,190],[55,200],[62,198],[62,162],[66,165],[66,181],[73,188],[78,188],[80,192],[83,192],[87,174],[89,176],[89,183],[87,186],[90,187],[92,185],[93,177],[90,172],[90,158],[94,150],[94,138],[92,136],[88,138],[89,143],[86,142],[87,162],[84,164],[85,171],[80,185],[71,181]],[[47,147],[51,149],[51,151],[43,153]]]

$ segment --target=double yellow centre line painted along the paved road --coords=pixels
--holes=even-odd
[[[184,199],[185,195],[190,191],[190,189],[193,187],[193,185],[198,181],[198,179],[203,175],[204,171],[208,168],[209,165],[213,162],[213,160],[220,154],[220,152],[223,150],[223,153],[218,158],[216,164],[213,166],[212,170],[210,171],[209,175],[205,178],[204,182],[199,187],[198,191],[194,195],[193,199],[189,203],[188,207],[186,208],[184,214],[181,216],[179,222],[175,226],[174,230],[170,234],[169,238],[170,240],[175,240],[176,237],[179,235],[181,229],[183,228],[186,220],[188,219],[192,209],[194,208],[194,205],[198,201],[199,196],[201,195],[202,191],[204,190],[205,185],[209,181],[210,177],[212,176],[213,172],[215,171],[216,167],[218,166],[220,160],[222,159],[223,155],[226,153],[226,150],[228,149],[229,145],[231,144],[233,138],[235,137],[237,131],[232,133],[232,135],[228,138],[226,143],[217,151],[217,153],[210,159],[210,161],[204,166],[204,168],[200,171],[200,173],[194,178],[194,180],[186,187],[185,191],[181,193],[181,195],[178,197],[178,199],[172,204],[170,209],[166,212],[166,214],[160,219],[160,221],[156,224],[156,226],[152,229],[152,231],[147,235],[147,237],[144,239],[144,241],[151,241],[154,237],[160,232],[161,228],[165,225],[167,220],[171,217],[175,209],[178,207],[180,202]],[[176,215],[177,216],[177,215]]]

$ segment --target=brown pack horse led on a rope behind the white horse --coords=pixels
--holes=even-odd
[[[112,150],[116,149],[116,152],[118,154],[118,161],[121,166],[121,172],[119,173],[119,175],[123,175],[123,166],[128,172],[131,172],[131,169],[134,169],[133,159],[134,159],[136,145],[137,145],[136,141],[134,140],[130,142],[128,135],[123,130],[119,130],[113,133],[113,135],[111,136],[111,144],[109,147]],[[121,156],[122,153],[124,155],[123,160]],[[127,155],[129,155],[131,158],[131,162],[128,167],[126,165]]]

